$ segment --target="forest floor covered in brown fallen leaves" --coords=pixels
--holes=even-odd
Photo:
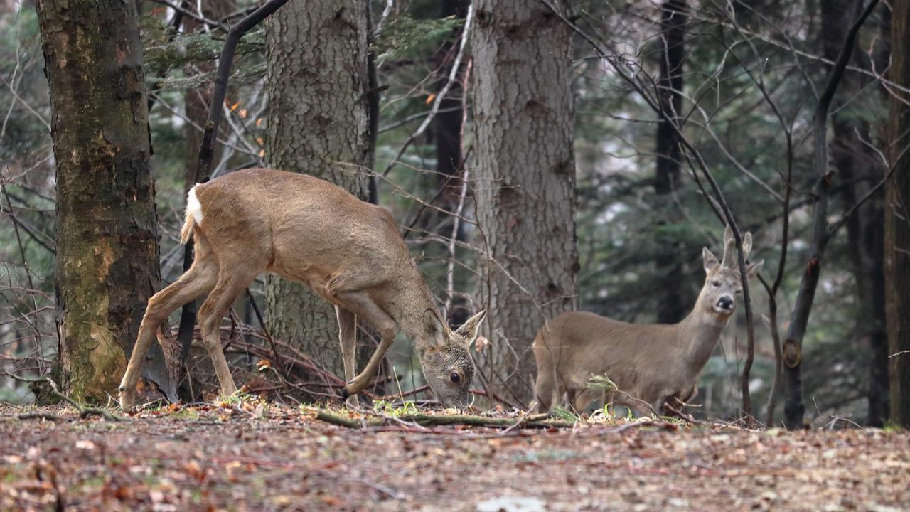
[[[910,509],[907,432],[351,429],[248,403],[121,417],[0,406],[0,510]]]

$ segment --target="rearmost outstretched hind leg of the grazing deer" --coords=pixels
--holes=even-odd
[[[136,404],[136,384],[139,382],[139,375],[142,372],[142,364],[145,362],[148,349],[155,339],[155,331],[158,325],[167,320],[171,312],[178,307],[209,292],[217,281],[218,264],[210,256],[201,256],[186,273],[180,276],[177,281],[172,282],[164,290],[157,292],[148,300],[146,313],[142,317],[142,323],[139,325],[139,333],[136,336],[136,344],[133,345],[133,353],[130,354],[129,364],[126,365],[126,373],[120,381],[120,407],[124,410],[131,408]]]

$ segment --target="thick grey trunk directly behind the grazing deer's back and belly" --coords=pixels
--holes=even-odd
[[[366,6],[291,2],[268,19],[266,43],[269,166],[327,179],[367,200]],[[343,374],[334,307],[276,276],[266,290],[272,335]]]

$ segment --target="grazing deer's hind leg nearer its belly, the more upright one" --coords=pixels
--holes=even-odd
[[[215,289],[208,295],[206,302],[199,308],[199,328],[202,331],[202,343],[208,351],[215,367],[222,395],[234,394],[237,386],[227,367],[224,351],[221,350],[221,336],[219,327],[221,318],[224,317],[230,305],[237,300],[238,295],[259,273],[258,267],[251,269],[248,263],[244,265],[227,265],[221,262],[221,271],[218,272],[218,281]],[[246,269],[244,269],[246,267]]]

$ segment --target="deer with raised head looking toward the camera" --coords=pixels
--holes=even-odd
[[[723,260],[718,263],[703,249],[707,274],[693,312],[672,325],[635,325],[591,312],[566,312],[537,333],[535,398],[540,412],[568,394],[576,411],[583,411],[603,390],[592,389],[594,375],[606,375],[616,384],[607,403],[626,405],[640,415],[651,408],[660,414],[671,398],[682,402],[698,391],[698,377],[708,362],[735,308],[742,282],[733,231],[723,236]],[[752,250],[752,233],[743,236],[743,257]],[[763,261],[746,271],[753,278]]]

